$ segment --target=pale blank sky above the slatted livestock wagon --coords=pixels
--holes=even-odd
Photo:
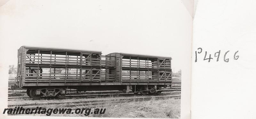
[[[186,67],[192,20],[180,0],[7,1],[0,7],[1,66],[17,65],[17,49],[40,46],[171,56]]]

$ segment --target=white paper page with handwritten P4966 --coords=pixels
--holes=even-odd
[[[193,21],[192,119],[256,117],[255,6],[254,0],[198,1]],[[197,53],[195,62],[197,48],[202,53]],[[217,62],[214,53],[219,50]],[[205,51],[206,58],[209,54],[213,58],[210,62],[203,60]],[[234,60],[236,51],[239,58]]]

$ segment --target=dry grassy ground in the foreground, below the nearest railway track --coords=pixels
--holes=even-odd
[[[134,96],[136,97],[136,96]],[[108,100],[106,100],[108,99]],[[180,118],[180,99],[165,99],[155,100],[152,98],[148,101],[129,101],[120,100],[124,97],[106,97],[106,98],[93,98],[93,99],[72,99],[72,101],[80,101],[76,103],[74,108],[91,108],[91,112],[95,108],[106,108],[104,114],[90,114],[88,116],[82,114],[52,114],[51,116],[76,116],[76,117],[128,117],[128,118]],[[43,101],[43,100],[42,100]],[[49,100],[50,101],[50,100]],[[57,100],[54,100],[57,101]],[[50,102],[54,102],[51,100]],[[59,100],[60,101],[60,100]],[[53,106],[49,108],[69,108],[66,104],[72,104],[70,99],[61,100],[62,105]],[[68,102],[69,101],[69,102]],[[89,101],[89,103],[83,104],[82,101]],[[36,104],[35,104],[36,105]],[[31,116],[45,116],[45,114],[30,114]]]

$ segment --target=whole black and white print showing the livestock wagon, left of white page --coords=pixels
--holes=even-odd
[[[188,88],[192,17],[180,0],[10,0],[0,14],[3,114],[181,118],[182,103],[189,110],[181,81]]]

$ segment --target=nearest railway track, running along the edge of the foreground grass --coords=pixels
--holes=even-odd
[[[48,107],[80,107],[85,105],[90,105],[93,107],[93,105],[101,105],[104,103],[111,102],[111,105],[115,105],[117,103],[121,102],[132,102],[132,101],[147,101],[147,100],[164,100],[164,99],[180,99],[180,95],[170,95],[170,96],[142,96],[138,98],[127,98],[127,99],[115,99],[115,100],[91,100],[91,101],[72,101],[72,102],[59,102],[59,103],[33,103],[33,104],[10,104],[8,105],[8,108],[14,108],[17,106],[23,107],[23,108],[36,108],[36,107],[42,107],[42,108],[48,108]],[[114,103],[112,103],[114,102]],[[36,105],[36,107],[35,107]]]

